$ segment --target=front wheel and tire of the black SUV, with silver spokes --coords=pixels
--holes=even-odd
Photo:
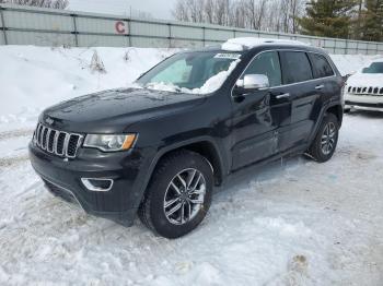
[[[204,221],[212,188],[213,174],[205,157],[186,150],[171,153],[156,166],[138,215],[155,234],[182,237]]]

